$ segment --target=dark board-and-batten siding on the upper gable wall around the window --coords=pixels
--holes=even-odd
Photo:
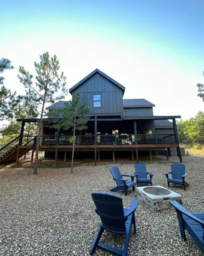
[[[73,91],[80,93],[80,104],[87,102],[92,115],[122,115],[123,91],[99,73],[88,78]],[[93,107],[93,95],[101,94],[101,107]]]

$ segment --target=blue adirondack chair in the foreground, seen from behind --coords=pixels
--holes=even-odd
[[[123,208],[121,196],[102,192],[94,192],[91,196],[96,206],[95,211],[100,216],[101,224],[91,246],[90,255],[92,255],[96,250],[96,247],[98,247],[110,253],[126,256],[132,225],[134,233],[136,234],[135,210],[139,204],[139,200],[132,200],[130,203],[130,209],[128,210]],[[113,234],[126,236],[123,251],[99,242],[104,230]]]

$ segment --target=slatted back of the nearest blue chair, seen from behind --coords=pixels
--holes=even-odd
[[[125,232],[127,218],[124,216],[122,197],[104,192],[93,192],[91,196],[103,225],[116,232]]]

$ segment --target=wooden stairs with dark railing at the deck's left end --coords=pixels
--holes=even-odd
[[[18,149],[19,138],[20,136],[16,137],[14,140],[12,140],[11,142],[9,142],[8,144],[6,144],[0,149],[0,164],[12,163],[16,161],[18,150],[19,150],[19,158],[21,158],[22,156],[24,156],[24,154],[29,152],[30,148]],[[28,141],[26,144],[30,142],[31,141]]]

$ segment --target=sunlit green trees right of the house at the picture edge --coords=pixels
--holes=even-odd
[[[204,144],[204,112],[199,111],[195,118],[180,120],[177,123],[179,142],[183,144]]]

